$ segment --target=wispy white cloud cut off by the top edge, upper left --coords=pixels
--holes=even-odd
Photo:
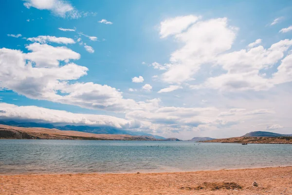
[[[39,10],[50,10],[56,16],[65,18],[70,17],[73,19],[80,18],[80,13],[65,0],[25,0],[23,5],[30,9],[35,7]]]

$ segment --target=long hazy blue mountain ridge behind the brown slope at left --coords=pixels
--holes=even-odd
[[[93,133],[93,134],[149,136],[149,137],[154,137],[156,139],[165,139],[165,137],[155,136],[155,135],[147,134],[144,132],[128,131],[128,130],[109,127],[109,126],[100,126],[100,127],[74,126],[74,125],[55,126],[48,123],[15,122],[15,121],[8,121],[8,122],[0,121],[0,124],[10,125],[10,126],[15,126],[15,127],[41,127],[41,128],[48,128],[48,129],[59,129],[63,131],[80,131],[80,132],[87,132],[87,133]]]

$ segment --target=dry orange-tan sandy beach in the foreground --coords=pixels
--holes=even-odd
[[[253,187],[256,180],[258,187]],[[292,195],[292,167],[0,176],[1,195]]]

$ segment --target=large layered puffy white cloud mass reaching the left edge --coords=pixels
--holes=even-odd
[[[88,68],[66,61],[79,59],[78,53],[66,47],[39,43],[30,44],[27,49],[32,52],[0,49],[0,88],[13,90],[27,98],[89,109],[120,112],[139,106],[108,85],[76,82],[87,74]],[[60,65],[60,61],[66,64]]]

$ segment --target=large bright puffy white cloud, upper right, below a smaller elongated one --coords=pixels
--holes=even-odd
[[[220,53],[231,48],[236,32],[237,28],[228,25],[226,18],[192,24],[175,36],[183,47],[171,54],[169,69],[162,75],[162,81],[180,84],[192,80],[202,64],[214,62]]]

